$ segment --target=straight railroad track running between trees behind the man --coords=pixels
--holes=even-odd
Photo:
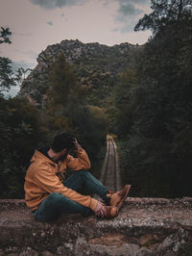
[[[107,136],[107,153],[100,180],[108,190],[116,192],[121,189],[117,146],[109,135]]]

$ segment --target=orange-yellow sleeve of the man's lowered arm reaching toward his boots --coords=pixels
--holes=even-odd
[[[89,195],[82,195],[79,192],[75,192],[63,186],[59,177],[53,173],[53,169],[45,166],[38,167],[36,175],[34,177],[36,185],[41,187],[44,192],[60,192],[67,198],[76,201],[79,204],[84,205],[92,210],[97,206],[97,200]]]

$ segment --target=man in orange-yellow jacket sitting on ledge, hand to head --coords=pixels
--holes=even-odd
[[[69,154],[74,149],[77,158]],[[74,172],[66,179],[66,168]],[[115,218],[127,197],[131,185],[121,192],[110,193],[87,169],[88,156],[78,141],[69,133],[61,132],[50,148],[36,150],[25,177],[25,201],[37,220],[50,221],[61,214],[92,211],[98,217]],[[103,202],[79,193],[82,188],[98,194]]]

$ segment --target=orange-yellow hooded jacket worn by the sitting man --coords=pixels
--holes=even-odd
[[[85,207],[89,207],[92,210],[95,209],[97,205],[96,199],[64,187],[62,177],[66,167],[73,170],[90,168],[88,156],[83,148],[77,151],[77,158],[67,155],[66,159],[59,164],[36,150],[31,160],[31,165],[27,170],[24,185],[25,202],[32,211],[35,211],[40,203],[52,192],[60,192]]]

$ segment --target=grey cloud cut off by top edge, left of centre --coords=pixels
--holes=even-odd
[[[83,5],[87,0],[30,0],[31,3],[44,8],[56,9],[65,6]]]

